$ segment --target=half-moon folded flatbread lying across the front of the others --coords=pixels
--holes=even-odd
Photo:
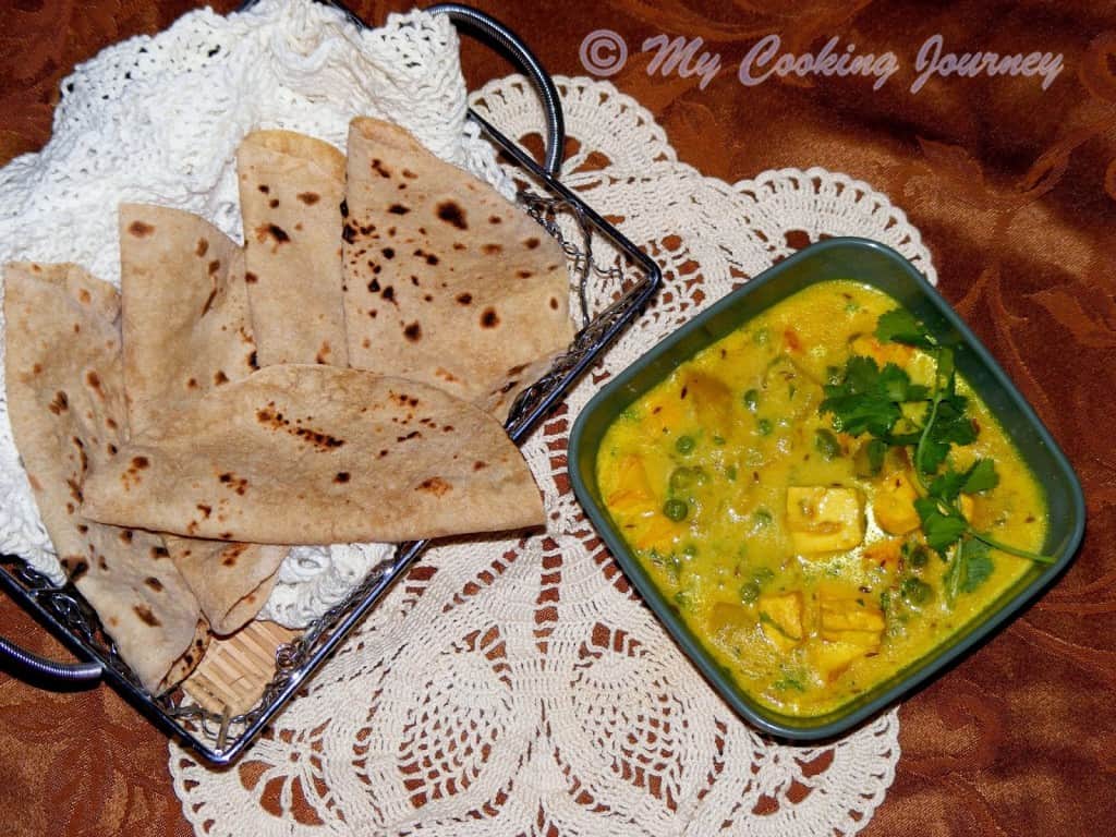
[[[135,436],[86,480],[84,513],[256,543],[403,541],[545,522],[499,423],[413,381],[282,365]]]

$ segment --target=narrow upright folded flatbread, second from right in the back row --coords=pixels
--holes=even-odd
[[[260,366],[348,366],[341,306],[345,155],[289,131],[237,150],[248,300]]]

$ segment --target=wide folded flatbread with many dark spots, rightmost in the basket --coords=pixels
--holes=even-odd
[[[345,200],[349,365],[474,401],[569,345],[558,243],[402,128],[353,121]]]

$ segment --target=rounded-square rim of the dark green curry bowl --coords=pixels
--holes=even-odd
[[[929,299],[930,304],[942,315],[949,325],[961,335],[963,341],[975,354],[979,363],[988,369],[992,378],[994,378],[994,382],[1002,387],[1013,405],[1020,411],[1022,419],[1035,430],[1041,443],[1048,449],[1049,454],[1056,464],[1054,479],[1065,481],[1064,488],[1069,497],[1069,511],[1072,514],[1072,527],[1070,528],[1069,536],[1065,540],[1065,546],[1055,562],[1048,565],[1017,593],[1007,597],[999,609],[991,612],[983,617],[978,616],[974,620],[968,623],[966,627],[962,627],[961,631],[965,631],[966,633],[951,646],[941,651],[936,656],[930,660],[930,662],[924,663],[921,666],[918,666],[917,661],[913,662],[912,665],[918,667],[913,668],[907,676],[899,679],[887,687],[882,687],[882,684],[887,684],[892,679],[885,679],[882,681],[882,684],[877,684],[868,692],[868,694],[870,694],[872,691],[878,690],[879,694],[875,698],[872,698],[864,703],[856,703],[856,701],[854,701],[853,708],[848,712],[844,713],[841,712],[841,708],[838,706],[831,712],[817,716],[820,719],[831,720],[825,720],[817,724],[809,725],[809,716],[795,719],[791,715],[768,710],[758,702],[748,699],[748,696],[743,693],[743,690],[741,690],[731,676],[723,671],[722,666],[712,658],[696,637],[693,636],[689,627],[685,626],[681,616],[679,616],[677,613],[670,607],[665,598],[661,595],[658,588],[655,586],[651,576],[639,565],[638,559],[635,558],[634,552],[623,541],[623,538],[618,536],[618,532],[610,522],[608,512],[604,508],[604,504],[598,503],[594,499],[586,481],[587,478],[581,472],[579,463],[583,460],[586,460],[586,458],[581,455],[583,444],[585,443],[584,436],[589,422],[594,419],[594,414],[606,407],[618,391],[622,391],[629,384],[629,382],[633,381],[633,378],[642,374],[645,366],[653,364],[663,355],[674,349],[679,343],[684,340],[692,333],[702,328],[706,321],[716,317],[720,312],[731,309],[733,306],[740,305],[740,300],[742,298],[754,294],[767,283],[773,281],[787,269],[801,261],[818,258],[819,256],[834,249],[868,250],[883,254],[893,263],[895,269],[903,271],[910,279],[914,280],[915,285]],[[787,297],[792,296],[795,292],[797,291],[791,291],[791,294],[788,294]],[[756,315],[767,310],[769,307],[770,306],[764,306],[757,311]],[[713,337],[704,345],[712,345],[718,339],[721,338]],[[662,379],[662,377],[657,378],[657,381]],[[647,392],[648,388],[650,387],[646,387],[639,391],[635,397],[639,397]],[[599,439],[597,440],[597,444],[599,444]],[[596,461],[596,450],[590,452],[590,458],[587,461]],[[651,607],[674,642],[681,646],[685,655],[705,676],[718,694],[725,702],[728,702],[738,714],[745,718],[761,731],[791,741],[817,741],[839,735],[858,725],[863,721],[876,715],[898,699],[911,694],[939,674],[944,673],[954,663],[956,663],[956,661],[991,637],[1001,625],[1019,615],[1027,605],[1033,602],[1056,578],[1058,578],[1076,556],[1085,532],[1085,498],[1077,474],[1074,472],[1074,469],[1061,448],[1050,435],[1049,430],[1035,413],[1035,410],[1027,402],[1027,400],[1023,398],[1022,394],[1008,377],[1007,373],[1004,373],[1004,371],[1000,367],[995,358],[972,333],[964,320],[961,319],[960,315],[953,309],[953,307],[941,296],[941,294],[939,294],[937,289],[926,281],[925,277],[923,277],[922,273],[920,273],[906,258],[878,241],[856,237],[835,237],[799,250],[787,259],[766,269],[740,288],[725,294],[724,297],[716,300],[703,311],[696,314],[686,323],[675,328],[666,337],[648,348],[634,362],[628,364],[609,382],[607,382],[605,386],[603,386],[593,396],[593,398],[589,400],[578,414],[570,431],[567,462],[574,493],[593,523],[596,533],[605,542],[616,562],[624,570],[626,578],[639,593],[643,600]],[[589,479],[595,478],[590,477]],[[1004,594],[1001,595],[1008,596],[1008,591],[1004,591]],[[956,636],[956,634],[954,634],[954,636]],[[941,648],[941,644],[936,647]],[[927,654],[920,657],[920,660],[925,661],[933,654],[933,651],[927,652]],[[893,675],[893,677],[897,676],[901,672],[902,670],[899,670],[896,675]],[[802,724],[799,725],[788,723],[781,721],[780,719],[795,721],[800,720]]]

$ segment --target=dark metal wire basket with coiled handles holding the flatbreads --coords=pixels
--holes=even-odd
[[[365,26],[340,3],[329,4],[341,9],[358,26]],[[430,11],[448,15],[459,27],[479,31],[485,40],[509,52],[538,90],[547,117],[545,163],[539,165],[478,113],[469,110],[469,118],[480,126],[513,166],[520,186],[517,202],[560,243],[569,260],[570,272],[576,277],[580,301],[581,328],[573,344],[555,359],[542,377],[519,395],[511,407],[504,427],[518,444],[560,402],[586,367],[638,316],[657,290],[661,272],[650,257],[558,180],[565,145],[561,106],[552,80],[527,46],[501,23],[470,7],[444,4]],[[600,239],[608,241],[618,253],[613,263],[602,264],[595,260],[594,243]],[[587,289],[589,282],[603,278],[620,290],[604,310],[590,316]],[[3,639],[0,639],[0,656],[15,660],[47,680],[85,682],[103,676],[158,728],[181,739],[199,756],[214,764],[230,764],[392,585],[406,574],[430,542],[422,540],[397,545],[391,558],[375,566],[341,603],[323,614],[299,636],[280,644],[275,653],[275,675],[263,687],[262,696],[239,714],[233,714],[228,706],[223,711],[214,711],[200,705],[181,686],[157,698],[150,695],[121,658],[96,613],[77,589],[71,584],[56,587],[50,579],[13,555],[0,556],[0,585],[87,662],[75,665],[50,663]]]

